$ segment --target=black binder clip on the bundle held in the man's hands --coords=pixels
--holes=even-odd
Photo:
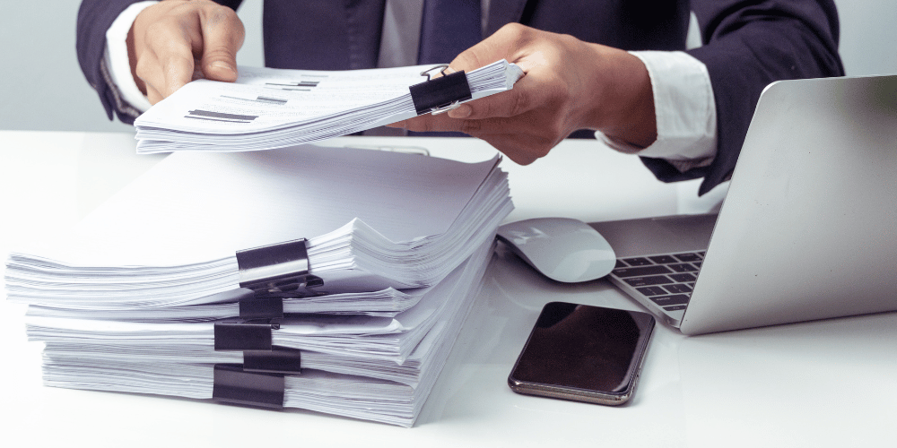
[[[438,68],[442,69],[440,71],[442,76],[431,78],[430,72]],[[447,68],[448,64],[443,64],[424,70],[421,72],[421,76],[426,75],[427,81],[408,88],[411,90],[411,99],[414,101],[417,115],[428,113],[437,115],[448,112],[457,108],[462,101],[473,98],[464,71],[446,74]]]

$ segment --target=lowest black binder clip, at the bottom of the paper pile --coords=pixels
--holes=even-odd
[[[212,400],[283,409],[286,384],[283,375],[248,372],[239,364],[216,364]]]

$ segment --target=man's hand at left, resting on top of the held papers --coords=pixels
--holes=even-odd
[[[210,0],[165,0],[137,15],[127,53],[137,87],[155,104],[195,79],[237,80],[246,31],[237,14]]]

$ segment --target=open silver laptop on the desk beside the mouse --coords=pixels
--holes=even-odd
[[[684,334],[897,310],[897,75],[772,83],[718,214],[592,226]]]

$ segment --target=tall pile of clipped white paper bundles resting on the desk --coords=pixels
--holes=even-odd
[[[70,233],[10,254],[7,297],[29,304],[48,385],[411,426],[513,207],[497,165],[312,145],[181,152]],[[298,285],[247,283],[247,249],[302,237]],[[280,314],[252,314],[272,303]],[[260,329],[262,348],[233,346]]]

